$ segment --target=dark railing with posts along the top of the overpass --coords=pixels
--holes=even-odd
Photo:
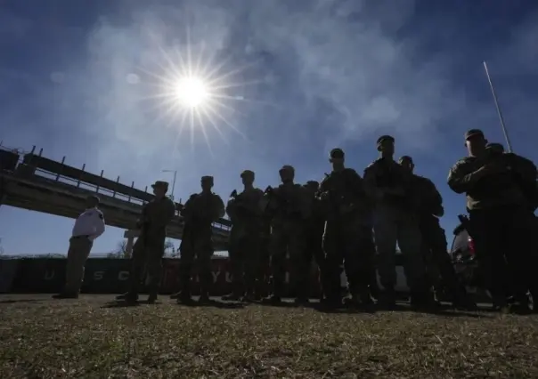
[[[83,189],[136,206],[143,206],[154,198],[154,195],[148,193],[147,186],[144,190],[136,189],[134,181],[129,187],[119,182],[119,176],[116,181],[111,181],[103,177],[103,171],[101,175],[86,172],[86,165],[83,165],[82,169],[65,165],[65,157],[61,159],[61,162],[42,157],[43,149],[40,149],[38,154],[34,154],[36,147],[29,153],[24,153],[20,149],[7,149],[5,147],[0,147],[0,149],[11,150],[19,155],[19,162],[15,172],[24,173],[24,176],[33,174],[48,181],[57,181],[73,188]],[[179,207],[180,203],[175,203],[175,205]],[[176,213],[176,215],[181,219],[179,213]],[[231,222],[223,218],[215,222],[213,227],[227,233],[231,228]]]

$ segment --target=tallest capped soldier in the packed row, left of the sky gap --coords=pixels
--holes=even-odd
[[[380,300],[395,305],[396,242],[405,255],[405,278],[411,288],[412,305],[430,302],[426,268],[420,252],[421,236],[416,214],[417,198],[412,193],[412,177],[394,160],[395,139],[378,139],[381,154],[364,170],[366,188],[375,199],[374,235],[379,255],[379,277],[385,291]]]

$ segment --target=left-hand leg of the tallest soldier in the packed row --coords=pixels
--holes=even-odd
[[[395,211],[390,207],[379,206],[374,215],[373,231],[378,253],[379,279],[387,294],[387,301],[392,302],[395,297],[394,290],[396,285],[395,254],[398,225]]]

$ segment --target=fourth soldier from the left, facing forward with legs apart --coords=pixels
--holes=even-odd
[[[286,277],[286,255],[291,265],[290,282],[296,293],[296,303],[308,302],[309,271],[305,259],[305,222],[310,212],[307,191],[293,182],[295,169],[290,165],[280,170],[282,184],[265,190],[265,212],[271,216],[271,269],[273,295],[268,299],[280,303],[284,296]]]

